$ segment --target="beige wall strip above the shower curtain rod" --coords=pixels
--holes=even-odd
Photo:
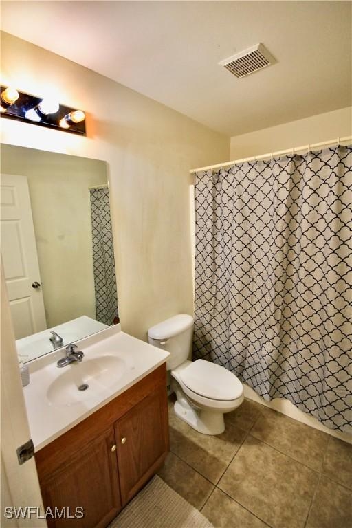
[[[352,107],[231,138],[230,159],[257,156],[352,135]]]

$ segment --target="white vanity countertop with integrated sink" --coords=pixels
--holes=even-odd
[[[56,362],[64,357],[63,350],[29,364],[30,384],[23,393],[36,451],[140,381],[169,355],[120,331],[120,325],[78,345],[85,353],[79,364],[59,369]],[[83,382],[89,388],[78,391]]]

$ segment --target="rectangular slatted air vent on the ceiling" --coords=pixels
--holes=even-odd
[[[274,57],[267,51],[263,44],[259,43],[255,46],[249,47],[248,50],[236,53],[232,57],[225,58],[219,65],[228,69],[237,78],[245,77],[246,75],[254,74],[259,69],[263,69],[276,61]]]

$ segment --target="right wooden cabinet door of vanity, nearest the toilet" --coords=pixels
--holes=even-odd
[[[146,396],[115,424],[122,505],[162,465],[168,451],[166,387]]]

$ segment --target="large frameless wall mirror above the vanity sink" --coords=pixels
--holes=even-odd
[[[1,145],[0,219],[20,360],[119,322],[105,162]]]

